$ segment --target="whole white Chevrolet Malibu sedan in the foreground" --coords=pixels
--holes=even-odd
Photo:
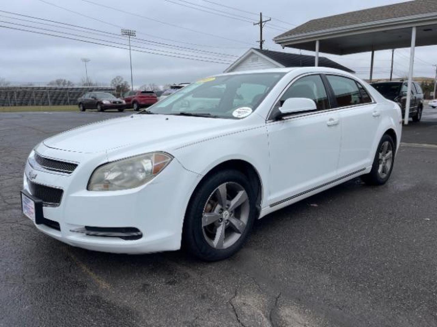
[[[69,245],[224,259],[258,218],[358,176],[384,184],[401,121],[397,104],[340,70],[208,77],[38,144],[22,208]]]

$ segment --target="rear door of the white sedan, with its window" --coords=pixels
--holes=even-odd
[[[325,75],[333,92],[333,105],[341,120],[340,177],[372,164],[373,144],[381,112],[361,83],[340,75]]]

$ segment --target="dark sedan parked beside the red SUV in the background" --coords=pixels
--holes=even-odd
[[[118,99],[111,93],[106,92],[89,92],[77,99],[77,105],[80,111],[86,109],[95,109],[104,111],[106,109],[117,109],[118,111],[125,110],[126,102],[123,99]]]

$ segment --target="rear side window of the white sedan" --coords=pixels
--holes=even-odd
[[[362,95],[361,90],[358,88],[358,84],[354,79],[336,75],[326,75],[326,78],[334,91],[338,107],[354,106],[371,102],[369,95],[360,85],[368,99],[366,100]]]

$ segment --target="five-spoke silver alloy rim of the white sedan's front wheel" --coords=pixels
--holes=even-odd
[[[218,186],[206,201],[202,215],[205,240],[214,249],[227,249],[243,234],[250,204],[245,189],[229,182]]]

